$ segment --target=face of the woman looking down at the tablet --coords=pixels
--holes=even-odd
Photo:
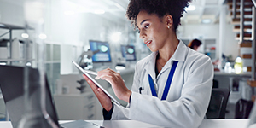
[[[136,22],[140,38],[153,52],[164,47],[166,38],[168,38],[168,31],[172,29],[171,27],[167,28],[165,17],[159,18],[157,15],[149,15],[146,11],[140,11],[137,15]]]

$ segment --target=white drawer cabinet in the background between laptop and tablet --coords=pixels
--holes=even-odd
[[[55,95],[54,99],[60,120],[96,119],[96,96],[92,92]]]

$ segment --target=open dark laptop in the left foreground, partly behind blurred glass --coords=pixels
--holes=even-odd
[[[28,68],[29,84],[39,86],[39,72],[38,69],[29,67]],[[24,104],[24,67],[15,66],[1,66],[0,65],[0,88],[3,95],[3,100],[6,105],[6,109],[9,113],[9,119],[14,128],[18,127],[20,119],[25,112]],[[39,94],[38,88],[30,88],[30,99],[33,105],[38,104],[38,99],[34,95]],[[86,122],[84,120],[76,120],[73,122],[68,122],[64,124],[59,124],[57,111],[55,109],[55,102],[51,96],[49,90],[49,84],[45,76],[45,104],[46,111],[53,119],[58,127],[64,128],[99,128],[100,125],[94,123]],[[40,111],[40,110],[38,110]]]

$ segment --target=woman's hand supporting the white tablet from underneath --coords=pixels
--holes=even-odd
[[[90,88],[95,93],[99,102],[102,104],[102,107],[109,112],[113,106],[111,99],[105,94],[105,92],[101,88],[96,86],[96,84],[94,84],[86,75],[83,74],[83,77],[90,85]]]

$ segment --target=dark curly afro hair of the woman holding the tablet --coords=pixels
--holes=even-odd
[[[172,15],[173,29],[176,32],[180,18],[183,17],[184,8],[189,6],[189,2],[191,0],[130,0],[126,16],[128,20],[131,20],[131,25],[136,27],[137,15],[142,10],[148,14],[158,15],[158,17],[163,17],[166,14]]]

